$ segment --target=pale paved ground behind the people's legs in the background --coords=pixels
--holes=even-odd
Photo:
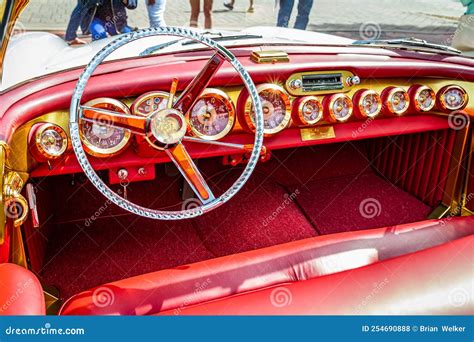
[[[214,1],[215,28],[275,25],[274,0],[255,0],[255,13],[247,13],[247,0],[237,0],[233,11],[225,9],[223,2]],[[63,32],[75,3],[31,0],[20,17],[21,25],[27,30]],[[354,39],[410,35],[442,41],[454,31],[463,12],[459,0],[315,0],[308,29]],[[188,0],[168,0],[168,25],[185,26],[189,15]],[[202,24],[202,15],[200,20]],[[129,11],[129,22],[132,26],[148,26],[145,0],[139,0],[139,7]]]

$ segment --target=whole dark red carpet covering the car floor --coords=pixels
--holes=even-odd
[[[277,151],[229,203],[203,217],[177,222],[124,214],[105,205],[87,182],[78,187],[71,186],[68,177],[51,178],[54,191],[43,184],[57,203],[51,221],[62,223],[55,224],[49,236],[42,280],[67,298],[105,282],[318,233],[424,219],[430,208],[373,173],[362,151],[361,144]],[[199,163],[216,194],[241,172],[218,161]],[[181,184],[158,168],[155,181],[131,184],[129,197],[142,205],[169,207],[179,202]],[[98,219],[85,224],[100,208],[104,210]]]

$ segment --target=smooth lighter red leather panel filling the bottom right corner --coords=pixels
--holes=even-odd
[[[474,236],[165,315],[472,315]]]

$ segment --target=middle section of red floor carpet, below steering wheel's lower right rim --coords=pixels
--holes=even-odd
[[[221,183],[225,185],[230,184]],[[267,176],[254,173],[227,205],[193,223],[206,247],[218,256],[317,235],[294,203],[295,196]]]

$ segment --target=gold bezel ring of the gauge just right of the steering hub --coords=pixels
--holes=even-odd
[[[216,98],[219,101],[224,102],[227,113],[229,115],[229,120],[227,122],[227,125],[224,127],[222,131],[220,131],[218,134],[215,135],[208,135],[200,132],[194,125],[192,124],[191,120],[191,113],[194,110],[194,107],[197,105],[197,103],[204,99],[204,98]],[[215,88],[207,88],[205,89],[201,96],[199,97],[198,101],[196,101],[196,104],[191,108],[191,110],[186,114],[186,121],[189,127],[189,131],[192,135],[201,138],[203,140],[219,140],[225,137],[234,127],[235,124],[235,105],[232,102],[232,99],[227,95],[225,92],[219,89]]]

